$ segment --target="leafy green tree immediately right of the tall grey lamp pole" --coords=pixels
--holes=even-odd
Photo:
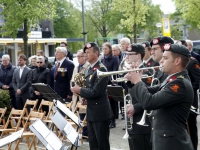
[[[101,34],[107,37],[120,23],[120,12],[111,9],[112,0],[92,0],[91,5],[86,10],[86,17]]]

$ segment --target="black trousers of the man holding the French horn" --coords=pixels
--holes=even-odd
[[[90,150],[110,150],[109,120],[93,122],[87,121]]]

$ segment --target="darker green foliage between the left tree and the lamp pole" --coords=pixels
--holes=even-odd
[[[57,38],[81,38],[82,12],[66,0],[56,0],[57,18],[54,20],[54,32]],[[83,42],[68,43],[71,52],[83,48]]]

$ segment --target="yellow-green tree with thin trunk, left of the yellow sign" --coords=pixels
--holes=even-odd
[[[122,27],[133,33],[134,43],[137,43],[137,27],[146,24],[148,7],[143,0],[114,0],[113,9],[122,13]]]

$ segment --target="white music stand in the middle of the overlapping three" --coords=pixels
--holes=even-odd
[[[51,118],[53,123],[58,127],[58,129],[67,137],[67,139],[75,147],[81,146],[81,135],[72,127],[71,123],[68,122],[59,111]]]

